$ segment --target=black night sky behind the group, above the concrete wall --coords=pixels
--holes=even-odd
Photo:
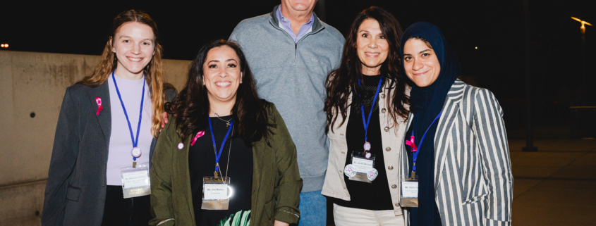
[[[238,22],[270,13],[280,1],[22,2],[3,3],[0,8],[0,43],[10,44],[8,50],[99,55],[114,17],[138,8],[157,22],[164,58],[192,60],[200,46],[226,39]],[[529,56],[536,101],[561,99],[561,87],[573,99],[582,83],[582,54],[580,23],[571,16],[596,25],[590,5],[590,1],[530,0]],[[322,20],[345,35],[355,15],[368,6],[394,13],[403,30],[421,20],[434,23],[456,49],[462,75],[475,77],[478,86],[491,89],[505,107],[523,101],[523,1],[326,0]],[[590,70],[590,65],[596,65],[592,54],[596,27],[586,30],[585,62],[591,89],[596,81]]]

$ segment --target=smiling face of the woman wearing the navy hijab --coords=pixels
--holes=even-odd
[[[411,38],[403,45],[403,68],[418,87],[430,86],[441,73],[441,64],[426,42]]]

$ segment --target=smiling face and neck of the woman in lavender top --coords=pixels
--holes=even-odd
[[[150,26],[138,22],[125,23],[112,39],[118,58],[116,75],[125,79],[140,79],[142,70],[154,54],[155,35]]]

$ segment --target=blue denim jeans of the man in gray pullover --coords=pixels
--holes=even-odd
[[[321,190],[300,193],[300,220],[298,226],[327,225],[327,199]]]

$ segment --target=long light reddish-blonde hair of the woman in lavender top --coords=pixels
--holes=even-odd
[[[116,65],[118,59],[116,58],[116,54],[112,52],[112,48],[114,48],[112,44],[112,40],[116,37],[116,32],[122,27],[122,25],[130,22],[138,22],[144,25],[148,25],[153,30],[153,34],[155,37],[155,49],[153,54],[153,58],[151,59],[150,63],[145,66],[143,69],[143,73],[145,73],[145,80],[147,80],[147,84],[149,84],[149,90],[151,95],[151,103],[152,103],[152,118],[151,118],[151,132],[153,137],[157,137],[157,133],[162,125],[162,113],[164,112],[164,104],[165,104],[165,94],[164,94],[164,68],[162,65],[162,53],[164,49],[162,49],[162,45],[159,44],[159,32],[157,32],[157,25],[150,18],[147,13],[138,10],[129,10],[120,13],[116,18],[114,18],[114,23],[112,23],[111,30],[109,33],[109,39],[106,42],[106,46],[104,46],[104,51],[102,53],[102,61],[95,67],[93,73],[91,75],[87,75],[83,77],[83,80],[77,82],[77,84],[83,84],[88,87],[99,87],[99,85],[104,84],[108,77],[110,76],[111,72],[116,70]]]

